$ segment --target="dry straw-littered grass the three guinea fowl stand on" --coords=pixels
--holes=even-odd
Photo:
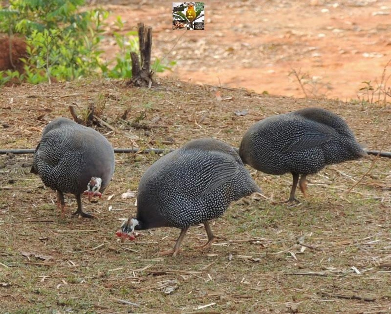
[[[82,81],[7,87],[0,95],[2,148],[34,148],[50,119],[70,116],[68,105],[84,109],[93,103],[115,128],[99,128],[114,147],[176,148],[204,136],[238,146],[255,121],[318,105],[345,118],[368,148],[391,150],[389,106],[265,96],[179,81],[164,81],[152,90]],[[244,110],[244,116],[234,113]],[[156,252],[171,248],[179,230],[146,230],[123,244],[114,236],[119,219],[136,211],[134,200],[120,195],[136,191],[142,173],[160,156],[117,154],[115,177],[102,199],[84,200],[86,211],[99,217],[94,220],[61,218],[54,191],[29,173],[31,157],[0,156],[0,312],[391,310],[388,159],[328,166],[309,178],[308,199],[291,207],[273,205],[287,198],[289,175],[251,170],[266,199],[233,203],[213,223],[222,239],[211,249],[195,248],[206,234],[203,227],[193,227],[179,256],[160,257]],[[72,196],[66,201],[70,214],[76,202]]]

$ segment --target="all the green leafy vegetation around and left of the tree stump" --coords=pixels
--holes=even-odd
[[[0,32],[12,37],[23,35],[27,57],[21,58],[23,72],[0,71],[0,85],[13,82],[68,81],[102,75],[130,78],[132,51],[138,53],[137,32],[120,33],[124,22],[117,18],[119,31],[113,36],[120,47],[114,60],[104,61],[100,41],[109,12],[81,10],[84,0],[13,0],[9,8],[0,7]],[[156,58],[152,71],[170,70],[176,62]]]

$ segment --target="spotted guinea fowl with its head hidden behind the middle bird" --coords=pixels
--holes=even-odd
[[[320,171],[327,164],[367,155],[346,122],[321,108],[301,109],[255,123],[244,134],[239,154],[245,164],[262,172],[292,173],[293,184],[287,202],[297,201],[298,182],[307,196],[308,174]]]

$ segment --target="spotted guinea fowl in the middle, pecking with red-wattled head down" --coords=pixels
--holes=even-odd
[[[260,192],[239,154],[215,139],[196,139],[156,161],[143,174],[137,195],[137,216],[125,221],[119,236],[154,227],[176,227],[181,233],[176,255],[188,228],[203,223],[207,248],[215,241],[208,221],[223,214],[233,200]],[[134,237],[133,237],[134,239]]]

